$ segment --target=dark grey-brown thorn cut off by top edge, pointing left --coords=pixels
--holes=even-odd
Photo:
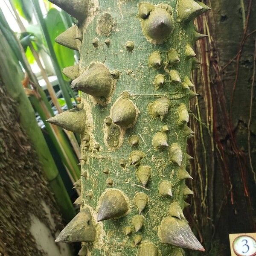
[[[65,12],[81,21],[87,17],[89,0],[49,0]]]

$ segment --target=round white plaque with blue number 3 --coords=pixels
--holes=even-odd
[[[239,236],[233,241],[233,250],[237,256],[255,256],[256,241],[250,236]]]

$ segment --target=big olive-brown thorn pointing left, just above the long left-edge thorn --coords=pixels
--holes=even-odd
[[[113,77],[102,63],[93,63],[87,71],[71,83],[73,89],[95,97],[108,97],[113,87]]]

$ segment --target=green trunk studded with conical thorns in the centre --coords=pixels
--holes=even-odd
[[[83,92],[76,109],[49,119],[82,138],[81,211],[56,241],[83,241],[79,255],[92,256],[204,251],[183,208],[193,194],[185,185],[198,63],[191,47],[204,37],[193,20],[209,8],[194,0],[51,2],[79,20],[57,41],[79,49],[79,66],[64,73]]]

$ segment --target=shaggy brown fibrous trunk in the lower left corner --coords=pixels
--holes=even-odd
[[[16,103],[7,95],[0,80],[0,254],[4,256],[43,256],[30,233],[30,215],[52,227],[42,202],[51,209],[57,224],[61,216],[40,169],[36,152],[19,124]]]

